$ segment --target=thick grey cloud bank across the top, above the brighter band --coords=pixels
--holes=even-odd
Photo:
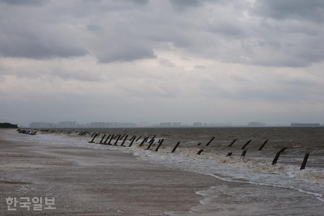
[[[48,4],[18,6],[43,2]],[[305,67],[324,59],[323,1],[2,3],[3,57],[92,55],[111,63],[154,59],[160,50],[176,49],[193,57],[271,67]]]

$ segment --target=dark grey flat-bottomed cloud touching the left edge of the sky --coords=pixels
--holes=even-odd
[[[42,24],[32,26],[32,22],[25,22],[26,26],[18,22],[0,23],[0,56],[46,59],[83,56],[88,53],[77,39],[65,35],[69,30],[64,27]],[[66,32],[63,33],[64,30]]]

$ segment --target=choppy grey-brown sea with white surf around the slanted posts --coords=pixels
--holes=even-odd
[[[62,130],[64,131],[61,132]],[[86,128],[62,130],[56,129],[55,133],[38,132],[37,136],[29,136],[29,139],[48,145],[64,143],[66,145],[123,151],[138,156],[140,160],[198,172],[228,183],[244,183],[251,188],[268,186],[270,188],[269,193],[271,193],[271,188],[285,189],[292,193],[305,194],[310,200],[322,202],[323,208],[321,210],[322,213],[324,212],[323,127]],[[69,130],[71,133],[67,134]],[[85,130],[90,133],[86,136],[78,136],[80,131]],[[101,133],[95,139],[97,143],[101,140],[103,134],[128,134],[129,137],[125,146],[129,145],[129,139],[133,135],[142,136],[142,138],[152,138],[154,135],[156,137],[150,150],[145,150],[148,143],[138,147],[142,138],[138,142],[134,142],[132,147],[125,148],[88,143],[92,139],[91,134],[94,132]],[[206,146],[213,137],[215,137],[214,140],[209,146]],[[159,139],[164,139],[164,142],[158,152],[155,152]],[[228,147],[234,139],[237,139],[236,142]],[[249,140],[252,141],[245,148],[247,150],[246,156],[241,158],[240,155],[243,151],[241,147]],[[269,141],[261,151],[258,151],[265,140]],[[179,147],[175,153],[170,153],[177,142],[180,142]],[[120,145],[120,143],[121,141],[117,145]],[[199,143],[201,144],[198,146]],[[277,164],[271,165],[276,152],[284,147],[287,147],[287,149],[280,154]],[[203,149],[203,152],[197,155],[196,153],[200,149]],[[231,157],[226,157],[229,152],[232,152]],[[305,153],[309,153],[309,158],[306,168],[300,170]],[[205,198],[201,200],[200,206],[191,210],[195,212],[201,210],[201,206],[205,206],[205,208],[213,206],[214,199],[220,191],[228,191],[228,188],[215,185],[207,190],[197,191],[197,195]],[[264,193],[264,191],[260,193]],[[255,190],[251,196],[260,197],[263,195],[258,194],[258,190]],[[299,201],[303,202],[303,200]],[[320,212],[310,211],[310,213],[324,215]]]

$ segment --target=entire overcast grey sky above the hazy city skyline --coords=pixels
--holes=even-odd
[[[324,123],[324,1],[0,0],[0,122]]]

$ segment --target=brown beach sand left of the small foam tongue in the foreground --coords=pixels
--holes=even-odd
[[[119,151],[17,143],[4,140],[3,133],[0,130],[0,209],[5,214],[3,200],[8,196],[55,197],[55,210],[24,214],[186,214],[202,198],[195,191],[219,181]],[[12,213],[21,214],[21,209]]]

